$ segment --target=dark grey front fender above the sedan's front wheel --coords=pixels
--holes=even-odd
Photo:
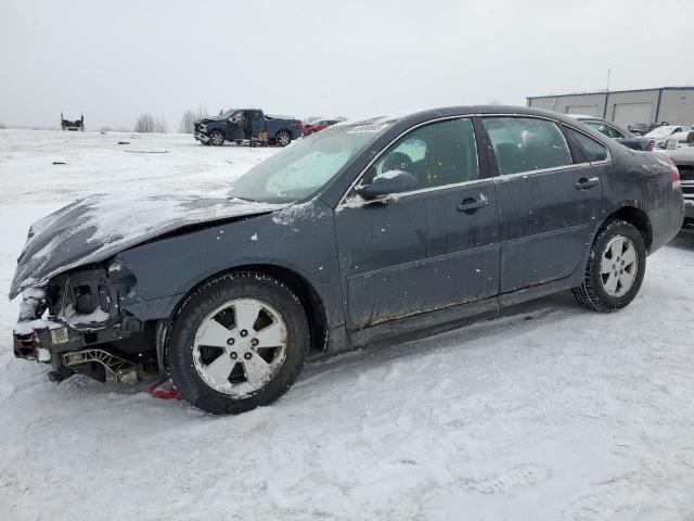
[[[307,280],[331,326],[344,323],[333,212],[319,201],[174,234],[116,255],[132,274],[120,306],[140,320],[167,318],[210,277],[248,265],[291,270]]]

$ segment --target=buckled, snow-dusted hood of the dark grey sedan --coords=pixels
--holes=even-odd
[[[194,195],[92,195],[31,225],[10,298],[57,274],[104,260],[128,247],[203,223],[266,214],[288,204]]]

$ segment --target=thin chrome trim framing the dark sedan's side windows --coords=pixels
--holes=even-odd
[[[373,164],[376,161],[378,161],[378,158],[390,148],[390,145],[393,143],[395,143],[397,140],[399,140],[402,136],[404,136],[404,135],[407,135],[407,134],[409,134],[409,132],[411,132],[413,130],[416,130],[420,127],[423,127],[425,125],[429,125],[432,123],[446,122],[446,120],[450,120],[450,119],[464,119],[464,118],[472,118],[472,117],[526,117],[526,118],[534,118],[534,119],[545,119],[548,122],[554,123],[555,125],[564,125],[564,126],[566,126],[566,127],[568,127],[568,128],[570,128],[573,130],[576,130],[576,131],[582,134],[587,138],[590,138],[593,141],[599,142],[603,147],[605,147],[605,149],[607,149],[607,158],[602,160],[602,161],[595,161],[595,162],[587,161],[587,162],[583,162],[583,163],[571,163],[570,165],[556,166],[556,167],[552,167],[552,168],[540,168],[540,169],[536,169],[536,170],[522,171],[522,173],[518,173],[518,174],[506,174],[506,175],[499,174],[498,176],[485,177],[483,179],[473,179],[473,180],[470,180],[470,181],[462,181],[462,182],[457,182],[457,183],[452,183],[452,185],[444,185],[441,187],[421,188],[421,189],[417,189],[417,190],[411,190],[409,192],[394,193],[391,195],[386,195],[385,198],[381,198],[381,199],[376,199],[376,200],[369,200],[368,201],[365,199],[361,199],[361,201],[358,201],[358,202],[355,202],[355,203],[346,203],[347,194],[349,192],[351,192],[352,189],[359,183],[359,181],[364,176],[367,170],[369,168],[371,168],[373,166]],[[561,132],[561,130],[560,130],[560,132]],[[566,137],[564,136],[563,132],[561,132],[561,134],[562,134],[562,138],[566,142]],[[612,138],[607,138],[607,139],[612,139]],[[570,153],[570,148],[568,147],[568,142],[566,143],[566,145],[569,149],[569,153]],[[492,144],[492,147],[493,147],[493,144]],[[476,140],[475,140],[475,151],[477,152],[477,165],[479,165],[479,150],[477,150],[477,141]],[[361,207],[361,206],[364,206],[365,204],[371,204],[371,203],[375,203],[375,202],[378,202],[378,201],[384,201],[384,200],[387,200],[389,198],[400,199],[400,198],[403,198],[403,196],[407,196],[407,195],[415,195],[415,194],[419,194],[419,193],[433,192],[433,191],[437,191],[437,190],[445,190],[447,188],[458,188],[458,187],[462,187],[462,186],[465,186],[465,185],[479,183],[479,182],[483,182],[483,181],[494,181],[497,179],[509,179],[511,177],[517,177],[517,176],[527,176],[527,175],[531,175],[531,174],[543,174],[543,173],[547,173],[547,171],[565,170],[565,169],[577,168],[579,166],[586,166],[586,165],[591,165],[591,166],[603,165],[603,164],[608,164],[611,162],[612,162],[612,152],[609,151],[609,147],[607,147],[606,144],[602,143],[600,140],[596,140],[592,136],[589,136],[588,134],[583,132],[582,130],[579,130],[578,128],[573,127],[571,125],[568,125],[568,124],[566,124],[564,122],[561,122],[558,119],[553,119],[553,118],[548,117],[548,116],[538,116],[538,115],[535,115],[535,114],[519,114],[519,113],[510,113],[510,114],[480,114],[480,113],[475,113],[475,114],[459,114],[459,115],[454,115],[454,116],[436,117],[434,119],[427,119],[426,122],[419,123],[415,126],[410,127],[407,130],[403,130],[398,136],[396,136],[393,140],[390,140],[381,150],[381,152],[378,152],[376,155],[374,155],[371,158],[371,161],[367,164],[365,167],[363,167],[361,169],[361,171],[355,178],[355,180],[351,182],[351,185],[349,185],[349,188],[347,188],[345,193],[343,193],[343,196],[339,198],[339,202],[337,203],[337,206],[335,206],[335,211],[343,209],[343,208]]]

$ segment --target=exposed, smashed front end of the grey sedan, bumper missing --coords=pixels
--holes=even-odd
[[[80,373],[133,384],[142,373],[156,372],[156,326],[120,305],[134,283],[126,268],[106,264],[25,290],[13,331],[14,355],[50,364],[49,379],[55,382]]]

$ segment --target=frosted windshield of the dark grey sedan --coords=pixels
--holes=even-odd
[[[232,198],[264,203],[304,201],[387,127],[386,124],[331,127],[267,158],[232,186]]]

